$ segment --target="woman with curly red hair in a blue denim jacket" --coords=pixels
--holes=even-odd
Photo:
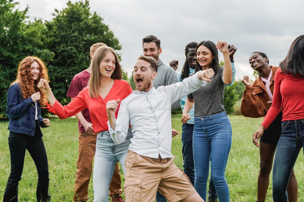
[[[50,201],[47,152],[40,130],[40,127],[50,126],[50,120],[40,116],[40,106],[46,101],[45,94],[36,88],[40,79],[48,80],[45,64],[37,57],[27,56],[19,63],[17,78],[7,93],[11,173],[3,196],[5,202],[18,201],[18,184],[26,150],[38,171],[37,201]]]

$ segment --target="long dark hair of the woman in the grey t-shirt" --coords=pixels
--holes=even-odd
[[[196,46],[196,52],[201,45],[206,46],[212,52],[214,58],[212,59],[209,68],[213,69],[215,75],[219,70],[219,53],[217,52],[216,45],[212,41],[202,41]],[[199,61],[196,60],[195,72],[200,70],[202,70],[202,67],[199,65]]]

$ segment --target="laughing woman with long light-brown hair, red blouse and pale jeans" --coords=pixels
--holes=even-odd
[[[89,109],[93,130],[98,133],[93,171],[94,201],[109,200],[108,190],[115,164],[119,161],[125,173],[126,155],[133,137],[129,129],[126,141],[117,145],[108,133],[106,103],[114,99],[122,100],[132,93],[129,83],[121,79],[116,52],[110,47],[102,46],[94,54],[88,87],[79,92],[67,106],[62,106],[56,100],[46,80],[41,79],[38,83],[38,88],[46,94],[50,102],[49,111],[60,119],[74,116],[85,108]],[[117,114],[118,110],[116,117]]]

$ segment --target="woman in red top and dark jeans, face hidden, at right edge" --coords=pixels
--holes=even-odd
[[[273,166],[273,200],[288,201],[288,181],[304,145],[304,35],[296,38],[275,74],[273,102],[260,128],[253,134],[254,144],[283,106],[282,133]]]

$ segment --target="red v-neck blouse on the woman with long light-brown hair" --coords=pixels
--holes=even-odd
[[[88,108],[94,132],[98,133],[100,131],[109,130],[106,104],[111,100],[120,99],[118,108],[115,112],[115,117],[117,118],[121,101],[132,93],[129,83],[124,80],[115,80],[108,95],[105,96],[105,99],[102,99],[101,96],[99,96],[99,98],[91,98],[88,91],[88,87],[81,90],[78,96],[66,106],[62,106],[58,100],[56,100],[52,107],[50,107],[50,105],[48,106],[49,112],[56,114],[60,119],[66,119],[74,116],[81,110]]]

